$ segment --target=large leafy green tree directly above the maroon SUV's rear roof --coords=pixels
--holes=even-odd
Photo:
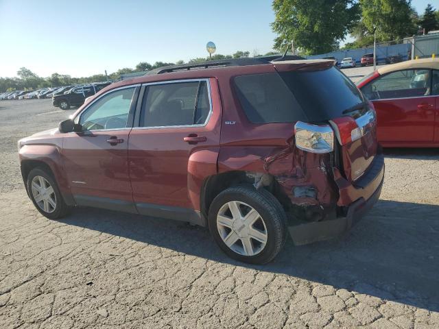
[[[306,53],[327,53],[337,47],[359,19],[356,0],[274,0],[274,49],[294,42]]]

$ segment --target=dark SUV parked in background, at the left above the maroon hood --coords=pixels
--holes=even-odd
[[[87,97],[95,95],[99,90],[108,86],[110,82],[102,84],[90,84],[86,86],[76,86],[63,93],[56,93],[52,97],[52,104],[62,110],[68,110],[71,106],[80,106]]]

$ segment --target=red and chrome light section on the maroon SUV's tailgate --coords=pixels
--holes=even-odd
[[[353,117],[340,117],[329,121],[340,145],[357,141],[357,139],[369,132],[371,125],[375,124],[375,122],[375,110],[373,106],[358,119],[353,119]]]

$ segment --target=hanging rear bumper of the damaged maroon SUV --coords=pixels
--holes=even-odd
[[[316,221],[289,226],[289,234],[294,244],[306,245],[316,241],[323,241],[340,236],[350,230],[351,227],[374,206],[379,199],[379,195],[381,195],[381,188],[383,187],[384,181],[384,163],[381,161],[378,163],[381,164],[381,168],[376,168],[372,172],[374,177],[370,178],[368,186],[351,186],[352,189],[357,191],[358,195],[361,193],[364,193],[364,195],[359,196],[355,202],[352,202],[346,207],[346,217],[337,217],[337,219],[327,221]],[[373,188],[371,194],[368,193],[370,187]]]

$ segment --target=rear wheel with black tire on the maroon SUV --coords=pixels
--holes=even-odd
[[[213,199],[208,221],[222,251],[244,263],[269,263],[285,244],[285,211],[263,188],[227,188]]]

